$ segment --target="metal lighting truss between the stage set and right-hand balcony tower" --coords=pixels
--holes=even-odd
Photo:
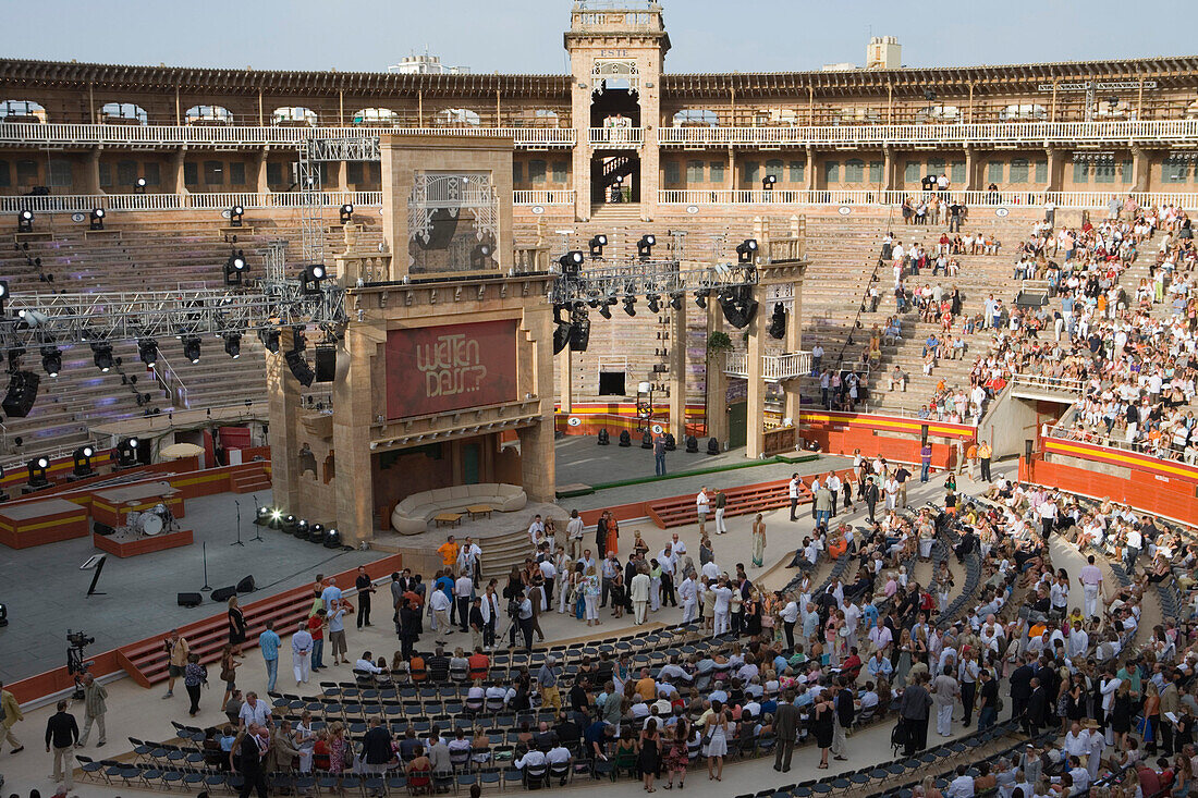
[[[577,273],[561,274],[553,282],[549,301],[555,306],[585,303],[603,313],[625,297],[682,297],[702,294],[714,296],[721,289],[756,285],[757,268],[752,264],[686,265],[677,260],[624,260],[592,262]],[[680,303],[672,303],[677,307]]]

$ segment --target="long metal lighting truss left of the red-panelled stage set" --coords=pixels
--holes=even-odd
[[[8,297],[6,304],[13,313],[0,318],[0,352],[96,340],[162,340],[184,335],[226,339],[231,333],[280,326],[335,327],[345,322],[343,289],[334,280],[321,280],[316,292],[304,292],[302,277],[284,273],[282,246],[267,252],[266,273],[252,289],[20,292]],[[19,315],[22,310],[24,318]],[[28,319],[37,322],[30,324]]]

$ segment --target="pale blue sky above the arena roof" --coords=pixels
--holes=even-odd
[[[1120,0],[662,0],[667,72],[861,64],[897,36],[907,66],[1186,55],[1188,28]],[[564,73],[569,0],[10,0],[6,58],[383,71],[412,50],[474,72]],[[1172,13],[1172,12],[1170,12]],[[764,23],[764,24],[763,24]],[[768,41],[767,41],[768,40]]]

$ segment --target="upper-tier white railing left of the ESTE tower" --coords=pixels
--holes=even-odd
[[[568,127],[258,127],[242,125],[0,125],[0,145],[110,145],[110,146],[298,146],[308,138],[392,135],[471,135],[512,138],[518,147],[571,147],[575,132]]]

